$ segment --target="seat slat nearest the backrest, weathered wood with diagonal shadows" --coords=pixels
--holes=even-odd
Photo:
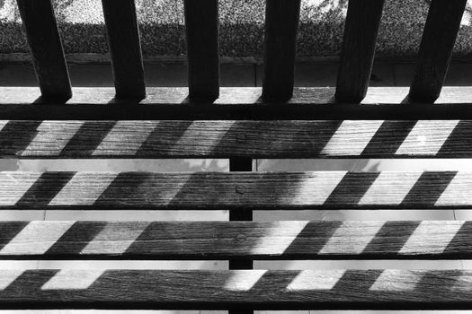
[[[0,120],[3,158],[235,156],[472,157],[472,121]]]

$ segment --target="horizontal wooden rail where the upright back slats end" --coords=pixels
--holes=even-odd
[[[264,103],[261,88],[250,87],[221,88],[211,103],[192,102],[187,88],[149,88],[139,106],[114,99],[113,88],[76,88],[67,106],[40,100],[36,88],[0,94],[4,119],[472,119],[472,87],[444,87],[433,106],[408,100],[407,87],[372,87],[361,104],[335,102],[334,88],[297,88],[287,105]]]

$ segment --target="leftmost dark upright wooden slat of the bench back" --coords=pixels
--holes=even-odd
[[[42,97],[69,99],[72,89],[50,0],[17,0],[17,3]]]

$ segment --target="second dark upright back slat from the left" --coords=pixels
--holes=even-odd
[[[144,98],[144,66],[134,0],[102,0],[117,98]]]

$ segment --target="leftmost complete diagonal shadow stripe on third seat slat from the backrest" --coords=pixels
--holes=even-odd
[[[106,224],[107,222],[75,222],[44,255],[77,255],[94,240]]]

